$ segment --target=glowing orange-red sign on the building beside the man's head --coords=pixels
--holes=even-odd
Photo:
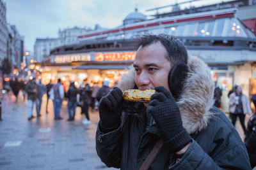
[[[136,52],[113,52],[113,53],[96,53],[95,60],[135,60]]]

